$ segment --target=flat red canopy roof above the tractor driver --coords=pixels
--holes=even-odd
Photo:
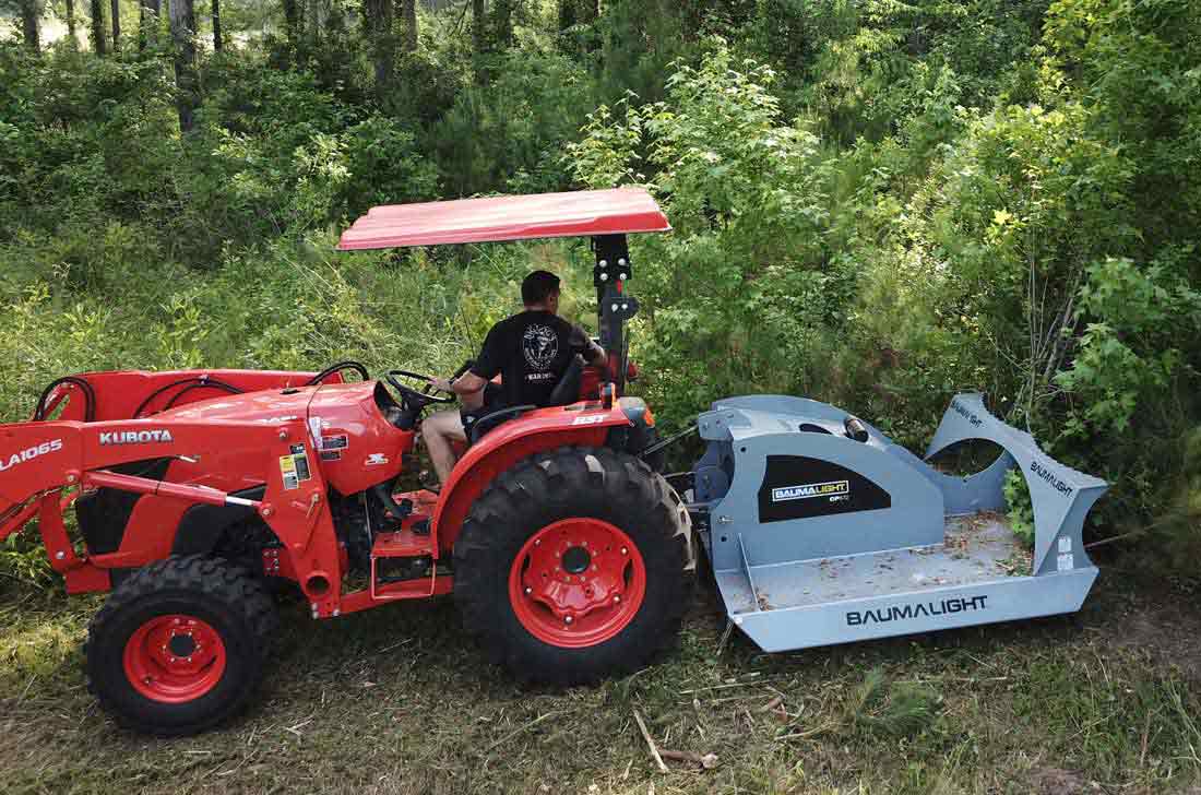
[[[337,247],[392,249],[670,228],[645,189],[619,187],[375,207],[342,233]]]

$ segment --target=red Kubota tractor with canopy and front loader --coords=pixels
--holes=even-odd
[[[650,410],[622,394],[638,309],[626,234],[668,228],[625,189],[381,207],[342,235],[342,250],[592,238],[609,366],[578,361],[555,405],[480,418],[438,492],[396,483],[422,412],[452,399],[354,363],[70,376],[31,422],[0,425],[0,540],[36,519],[70,593],[110,592],[85,647],[100,704],[167,735],[229,717],[258,689],[283,581],[313,618],[453,592],[521,680],[650,660],[679,629],[692,530],[647,464]]]

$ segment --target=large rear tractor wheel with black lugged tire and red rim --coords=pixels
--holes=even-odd
[[[497,477],[464,522],[454,549],[464,624],[522,681],[639,670],[679,635],[689,531],[675,491],[626,453],[534,454]]]

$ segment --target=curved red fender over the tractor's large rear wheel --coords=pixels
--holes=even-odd
[[[432,521],[437,549],[443,555],[450,552],[472,503],[501,472],[543,450],[603,447],[610,429],[629,424],[616,402],[611,408],[575,404],[539,408],[489,431],[459,459],[442,488]]]

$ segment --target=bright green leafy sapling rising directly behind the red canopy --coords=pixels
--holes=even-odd
[[[781,119],[770,68],[740,71],[724,42],[711,47],[701,66],[676,66],[665,101],[625,104],[621,121],[602,107],[567,151],[591,186],[655,172],[676,232],[637,241],[650,319],[634,353],[676,422],[747,383],[796,389],[781,363],[802,360],[830,309],[821,287],[837,282],[807,273],[825,216],[817,139]]]

